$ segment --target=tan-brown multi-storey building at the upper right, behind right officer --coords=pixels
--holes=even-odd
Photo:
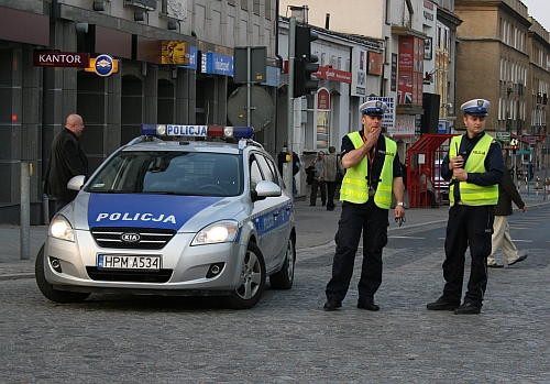
[[[548,32],[519,0],[455,0],[455,12],[463,20],[458,30],[458,101],[490,100],[486,131],[494,136],[509,133],[521,151],[508,162],[520,168],[531,161],[546,166]]]

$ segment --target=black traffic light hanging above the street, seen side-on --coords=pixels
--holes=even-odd
[[[294,61],[294,97],[309,94],[319,87],[319,80],[311,74],[319,70],[318,57],[311,54],[311,42],[319,36],[309,26],[296,25]]]

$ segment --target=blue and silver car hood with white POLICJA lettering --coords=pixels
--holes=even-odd
[[[94,227],[158,228],[197,232],[211,222],[233,219],[243,210],[241,197],[78,194],[77,229]]]

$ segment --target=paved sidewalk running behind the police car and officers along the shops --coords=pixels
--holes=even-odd
[[[534,190],[527,196],[525,188],[520,190],[521,198],[527,204],[528,209],[537,206],[550,204],[543,199],[543,194],[537,196]],[[514,208],[516,208],[514,206]],[[296,213],[296,249],[298,253],[309,252],[314,249],[333,248],[334,234],[338,229],[338,220],[341,212],[341,201],[337,201],[337,208],[328,211],[320,206],[310,207],[309,201],[304,197],[295,201]],[[449,206],[440,208],[414,208],[405,212],[406,222],[399,227],[394,220],[389,220],[388,231],[393,234],[406,234],[422,229],[444,227],[447,224]],[[393,217],[393,210],[389,211]],[[30,231],[30,260],[21,260],[20,243],[21,228],[19,226],[0,226],[0,242],[3,244],[0,250],[0,281],[30,278],[34,276],[34,260],[40,248],[44,243],[47,234],[47,226],[32,226]]]

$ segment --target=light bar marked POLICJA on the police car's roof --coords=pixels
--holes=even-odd
[[[155,136],[252,139],[254,138],[254,128],[222,125],[141,124],[141,133]]]

